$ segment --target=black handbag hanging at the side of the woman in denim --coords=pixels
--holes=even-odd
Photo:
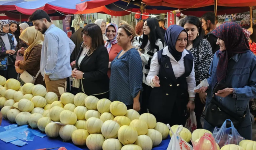
[[[248,107],[246,108],[247,111]],[[234,126],[237,128],[239,124],[243,122],[244,116],[238,116],[234,112],[228,110],[225,106],[218,103],[214,98],[212,98],[210,104],[206,107],[204,112],[202,113],[202,117],[212,126],[220,128],[222,124],[227,120],[230,119]],[[231,126],[230,122],[227,122],[227,126]]]

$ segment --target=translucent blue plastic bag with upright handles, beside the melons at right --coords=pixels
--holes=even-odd
[[[226,128],[227,121],[231,122],[230,128]],[[220,129],[215,128],[212,135],[214,136],[215,141],[220,146],[220,148],[222,148],[224,145],[227,145],[227,144],[239,145],[239,142],[244,140],[244,138],[242,136],[240,136],[240,134],[234,127],[234,124],[232,123],[232,121],[229,119],[227,119],[222,124]]]

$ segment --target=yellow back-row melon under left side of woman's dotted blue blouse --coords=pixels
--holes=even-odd
[[[119,101],[112,102],[109,109],[114,116],[124,116],[127,113],[126,105]]]

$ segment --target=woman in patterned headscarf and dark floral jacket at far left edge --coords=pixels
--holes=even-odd
[[[14,65],[8,64],[8,59],[11,59],[8,56],[12,57],[15,54],[14,38],[8,33],[9,30],[9,22],[0,20],[0,75],[6,79],[12,78],[12,73],[15,72]]]

